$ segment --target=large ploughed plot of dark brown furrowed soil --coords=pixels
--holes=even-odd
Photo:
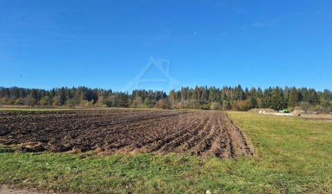
[[[222,158],[253,150],[227,114],[213,111],[0,112],[0,143],[23,152],[189,152]]]

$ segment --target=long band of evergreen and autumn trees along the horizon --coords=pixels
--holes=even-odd
[[[165,91],[134,90],[129,93],[111,89],[61,87],[55,89],[0,88],[0,105],[68,107],[156,107],[163,109],[322,109],[332,111],[332,92],[305,87],[182,87]]]

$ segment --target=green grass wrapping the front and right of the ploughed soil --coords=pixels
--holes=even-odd
[[[332,193],[332,123],[228,112],[254,158],[18,153],[0,148],[0,183],[84,193]]]

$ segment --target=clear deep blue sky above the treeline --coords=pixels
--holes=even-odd
[[[319,0],[0,0],[0,86],[122,90],[154,57],[177,85],[332,89],[331,10]],[[169,89],[154,65],[142,79]]]

